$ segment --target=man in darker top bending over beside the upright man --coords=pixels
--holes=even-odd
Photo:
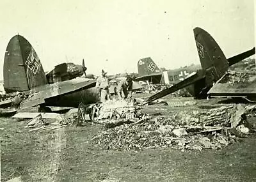
[[[132,99],[132,78],[128,75],[125,80],[119,82],[116,88],[119,98],[122,98],[122,92],[124,93],[124,99],[131,101]]]

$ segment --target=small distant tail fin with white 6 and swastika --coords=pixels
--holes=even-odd
[[[150,75],[151,73],[161,72],[151,57],[146,57],[138,61],[139,76]]]

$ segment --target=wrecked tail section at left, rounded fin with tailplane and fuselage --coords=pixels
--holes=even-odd
[[[83,66],[83,72],[85,72]],[[4,91],[22,92],[29,98],[21,108],[40,105],[77,107],[79,103],[99,101],[95,79],[79,78],[49,84],[38,55],[31,44],[19,34],[8,43],[4,56]]]

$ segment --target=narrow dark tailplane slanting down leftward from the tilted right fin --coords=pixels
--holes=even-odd
[[[205,72],[204,70],[198,70],[198,72],[195,72],[191,74],[186,79],[180,81],[179,83],[173,85],[172,87],[169,87],[167,89],[164,89],[163,91],[160,91],[159,93],[156,93],[155,95],[150,96],[143,102],[142,104],[145,105],[149,102],[152,102],[154,100],[157,100],[159,98],[162,98],[163,96],[169,95],[170,93],[174,93],[175,91],[178,91],[179,89],[182,89],[186,86],[189,86],[191,84],[194,84],[198,80],[202,80],[205,78]]]

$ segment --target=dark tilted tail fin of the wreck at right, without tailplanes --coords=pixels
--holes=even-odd
[[[199,27],[194,29],[196,48],[203,69],[214,70],[214,79],[220,77],[228,70],[228,61],[218,43],[212,38],[211,34]]]

